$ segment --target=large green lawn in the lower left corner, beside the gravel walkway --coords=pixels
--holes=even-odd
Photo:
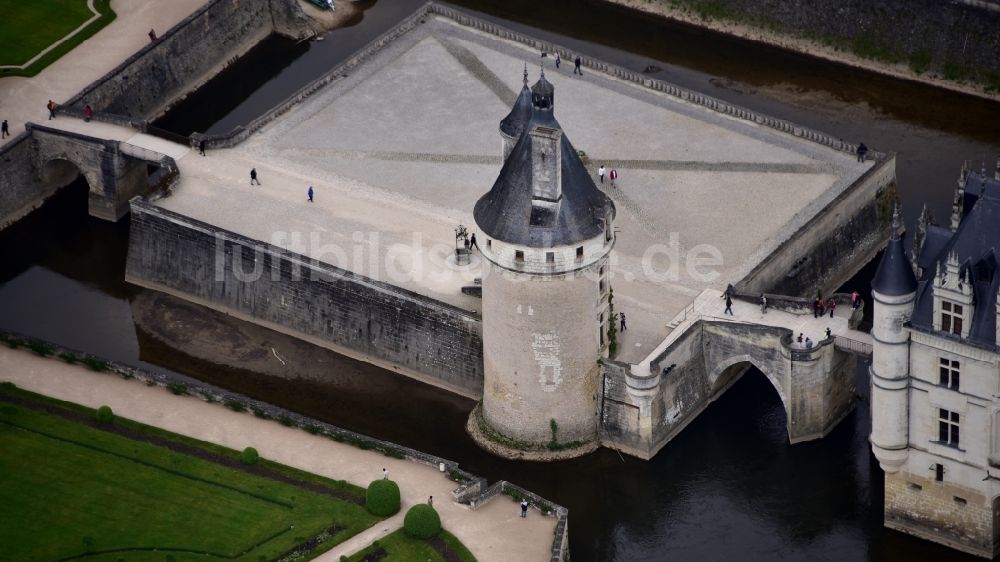
[[[116,419],[133,439],[39,411],[93,412],[0,387],[0,560],[270,561],[333,527],[308,560],[373,525],[364,490],[269,462],[265,475],[193,454],[239,453]],[[147,438],[170,436],[183,454]],[[275,476],[277,475],[277,476]],[[305,482],[279,481],[290,478]],[[154,551],[155,549],[155,551]]]

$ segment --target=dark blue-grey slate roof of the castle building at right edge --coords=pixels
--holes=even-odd
[[[973,318],[969,339],[996,345],[996,299],[1000,289],[1000,181],[970,172],[966,181],[963,217],[954,233],[932,226],[917,258],[924,268],[917,288],[911,323],[932,329],[933,285],[937,264],[948,255],[958,255],[961,273],[967,274],[973,290]]]

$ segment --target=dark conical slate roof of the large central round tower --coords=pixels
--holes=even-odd
[[[552,84],[545,80],[536,86],[551,102]],[[601,235],[605,219],[614,217],[614,203],[594,184],[565,133],[560,141],[562,197],[554,206],[533,204],[529,132],[534,127],[562,129],[551,107],[533,110],[493,188],[476,203],[476,224],[491,238],[532,248],[573,245]]]

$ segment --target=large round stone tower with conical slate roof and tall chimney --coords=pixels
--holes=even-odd
[[[474,211],[485,258],[482,413],[492,432],[522,448],[590,443],[611,321],[615,207],[556,121],[544,71],[530,102],[499,177]],[[506,125],[525,115],[518,105]]]

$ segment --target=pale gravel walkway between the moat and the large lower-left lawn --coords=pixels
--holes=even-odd
[[[406,509],[426,502],[428,496],[434,496],[434,507],[445,529],[478,560],[549,559],[555,518],[532,511],[527,519],[521,519],[517,504],[503,497],[472,511],[451,501],[456,484],[430,466],[363,451],[274,421],[232,412],[219,404],[175,396],[163,388],[94,373],[27,351],[0,348],[0,381],[92,408],[106,404],[127,418],[225,447],[239,450],[253,446],[265,458],[359,486],[381,478],[382,468],[387,468],[389,477],[400,486],[403,509],[316,558],[319,561],[336,562],[341,555],[356,552],[395,531],[402,526]]]

